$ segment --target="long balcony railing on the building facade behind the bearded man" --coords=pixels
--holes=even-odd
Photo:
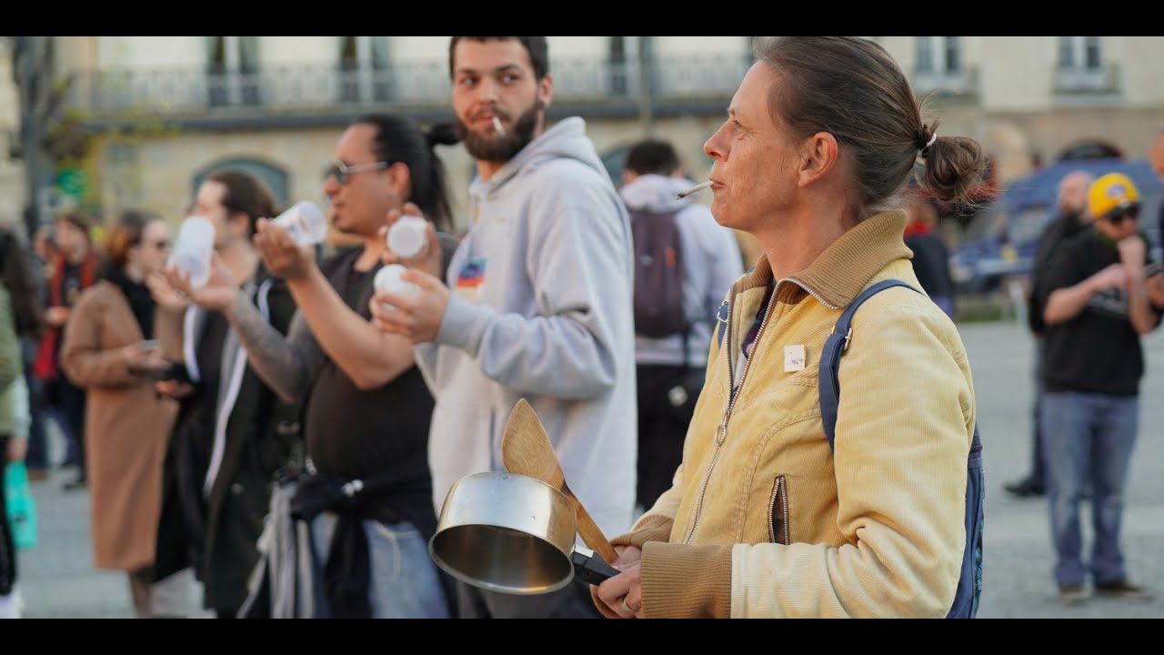
[[[726,99],[751,61],[744,56],[667,57],[652,65],[655,103]],[[634,103],[643,76],[638,61],[555,59],[555,101]],[[445,61],[396,62],[382,70],[339,64],[268,66],[254,73],[205,69],[121,69],[73,75],[71,105],[93,118],[125,114],[207,115],[305,113],[377,108],[433,108],[449,103]]]

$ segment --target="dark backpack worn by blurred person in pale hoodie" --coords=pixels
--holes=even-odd
[[[687,333],[683,246],[677,212],[630,210],[634,239],[634,333],[660,338]]]

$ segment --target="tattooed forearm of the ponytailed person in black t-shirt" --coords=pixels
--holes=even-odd
[[[284,337],[239,294],[226,311],[227,321],[247,348],[250,366],[283,402],[294,403],[307,394],[311,379],[324,360],[324,351],[303,315],[296,312]]]

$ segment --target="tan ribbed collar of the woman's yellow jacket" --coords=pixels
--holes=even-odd
[[[873,277],[890,262],[913,256],[902,237],[908,221],[901,210],[867,218],[825,248],[808,268],[787,279],[833,308],[849,307]],[[772,265],[762,255],[737,291],[768,287]],[[783,296],[783,294],[781,294]]]

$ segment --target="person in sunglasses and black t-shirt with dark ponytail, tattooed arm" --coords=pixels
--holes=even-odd
[[[384,283],[399,274],[381,267],[393,218],[423,211],[435,225],[450,221],[443,167],[433,146],[453,140],[449,132],[426,134],[399,115],[369,114],[353,122],[336,142],[322,190],[332,225],[357,245],[317,262],[279,221],[260,220],[255,245],[267,268],[286,280],[299,312],[285,336],[253,308],[235,303],[230,312],[258,374],[284,400],[306,399],[304,439],[314,471],[305,484],[364,483],[359,502],[305,517],[317,552],[367,552],[363,566],[326,563],[364,571],[343,580],[361,592],[328,599],[333,618],[449,615],[427,550],[436,524],[427,450],[432,394],[414,366],[412,345],[376,330],[368,301],[377,277]],[[425,231],[435,244],[427,223]],[[450,256],[453,246],[426,252]]]

